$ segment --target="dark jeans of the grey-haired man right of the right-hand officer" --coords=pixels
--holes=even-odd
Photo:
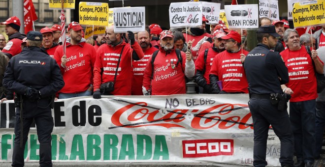
[[[298,161],[314,162],[316,134],[316,101],[290,102],[290,121],[294,150]]]

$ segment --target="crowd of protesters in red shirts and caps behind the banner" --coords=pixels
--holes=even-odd
[[[151,24],[137,33],[115,33],[110,26],[104,35],[86,40],[84,28],[71,22],[66,29],[65,54],[62,27],[42,28],[41,49],[55,59],[65,82],[56,97],[99,99],[101,95],[184,94],[190,81],[197,84],[197,93],[248,93],[244,69],[249,53],[247,31],[230,30],[220,21],[211,25],[211,33],[207,33],[207,23],[203,16],[202,25],[197,28],[163,30],[158,24]],[[2,86],[6,65],[29,46],[26,46],[26,35],[19,32],[21,24],[17,17],[1,24],[8,35],[6,40],[0,34],[0,99],[3,102],[14,98],[14,92]],[[286,20],[261,18],[260,26],[266,25],[273,25],[279,34],[275,47],[270,50],[280,53],[289,71],[290,82],[281,87],[284,93],[292,95],[290,117],[297,156],[295,166],[308,166],[322,153],[325,93],[317,94],[315,73],[324,73],[325,25],[312,27],[312,35],[304,34],[304,29],[290,28]]]

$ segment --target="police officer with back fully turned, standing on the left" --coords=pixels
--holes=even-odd
[[[54,122],[51,108],[54,94],[65,83],[60,67],[40,49],[41,43],[40,32],[28,32],[27,48],[10,59],[4,73],[3,86],[17,95],[12,167],[24,166],[24,149],[33,119],[39,141],[39,164],[41,167],[52,167],[51,133]]]

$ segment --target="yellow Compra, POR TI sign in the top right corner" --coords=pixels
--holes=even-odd
[[[293,4],[294,28],[325,24],[324,0],[312,0]]]

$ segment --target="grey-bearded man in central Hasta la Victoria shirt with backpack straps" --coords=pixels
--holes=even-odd
[[[147,63],[143,76],[142,92],[147,95],[185,94],[185,76],[194,77],[195,65],[190,52],[180,51],[182,62],[176,55],[174,35],[169,30],[160,33],[160,49],[153,62]],[[148,62],[151,62],[152,56]]]

